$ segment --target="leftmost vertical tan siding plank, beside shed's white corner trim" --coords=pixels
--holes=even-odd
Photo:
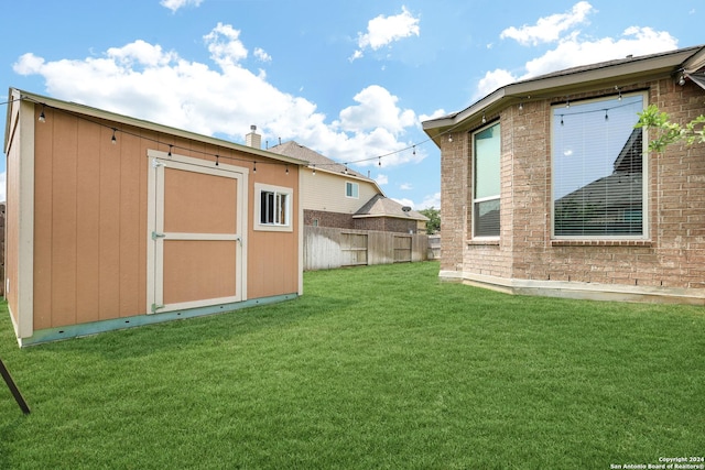
[[[34,144],[34,329],[52,326],[52,192],[54,125],[62,116],[45,110]]]

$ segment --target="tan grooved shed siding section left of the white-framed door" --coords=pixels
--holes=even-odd
[[[36,127],[35,329],[145,313],[144,154],[111,135],[62,112]]]

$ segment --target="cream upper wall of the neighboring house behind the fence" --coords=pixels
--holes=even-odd
[[[375,185],[354,178],[346,178],[345,175],[333,175],[317,171],[315,175],[311,170],[303,170],[304,208],[308,210],[321,210],[327,212],[355,214],[368,200],[378,194]],[[350,198],[345,196],[345,183],[357,183],[359,185],[359,197]]]

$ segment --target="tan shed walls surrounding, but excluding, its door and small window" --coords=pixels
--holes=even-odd
[[[171,144],[206,164],[213,159],[204,155],[218,154],[224,163],[246,167],[252,155],[109,121],[99,125],[48,107],[39,123],[41,107],[13,106],[23,112],[12,113],[20,124],[8,145],[7,296],[18,337],[147,314],[148,151],[169,152]],[[120,129],[115,144],[112,127]],[[20,167],[25,162],[33,162],[31,174]],[[249,178],[250,201],[256,182],[293,190],[293,230],[254,231],[253,204],[248,205],[246,297],[295,295],[301,291],[299,166],[289,165],[285,173],[284,165],[260,165]],[[22,193],[25,183],[32,194]],[[22,217],[31,218],[32,231],[23,228]],[[22,243],[29,243],[29,263],[21,259],[28,253]],[[23,285],[23,278],[32,284]],[[30,298],[22,302],[22,295]],[[28,318],[32,323],[23,328]]]

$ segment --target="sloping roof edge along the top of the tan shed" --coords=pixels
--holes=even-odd
[[[198,141],[198,142],[204,142],[204,143],[216,145],[216,146],[220,146],[220,147],[224,147],[224,149],[232,149],[232,150],[237,150],[237,151],[241,151],[241,152],[247,152],[247,153],[250,153],[252,155],[258,155],[258,156],[261,156],[261,157],[265,157],[265,159],[270,159],[270,160],[274,160],[274,161],[279,161],[279,162],[283,162],[283,163],[288,163],[288,164],[292,164],[292,165],[306,166],[308,164],[308,162],[305,162],[303,160],[293,159],[293,157],[285,156],[285,155],[280,155],[280,154],[276,154],[276,153],[273,153],[273,152],[268,152],[265,150],[257,149],[257,147],[253,147],[253,146],[238,144],[238,143],[226,141],[226,140],[223,140],[223,139],[217,139],[217,138],[213,138],[213,136],[209,136],[209,135],[203,135],[203,134],[198,134],[198,133],[195,133],[195,132],[185,131],[183,129],[172,128],[172,127],[169,127],[169,125],[158,124],[158,123],[145,121],[145,120],[142,120],[142,119],[137,119],[137,118],[131,118],[131,117],[123,116],[123,114],[118,114],[118,113],[115,113],[115,112],[111,112],[111,111],[106,111],[106,110],[102,110],[102,109],[91,108],[91,107],[86,106],[86,105],[79,105],[79,103],[76,103],[76,102],[63,101],[63,100],[59,100],[59,99],[55,99],[55,98],[50,98],[50,97],[32,94],[32,92],[29,92],[29,91],[17,89],[17,88],[10,88],[10,94],[9,95],[10,95],[10,100],[17,100],[17,99],[26,100],[26,101],[30,101],[30,102],[34,102],[35,105],[44,105],[47,108],[54,108],[54,109],[63,110],[65,112],[69,112],[69,113],[74,113],[74,114],[82,114],[82,116],[85,116],[85,117],[88,117],[88,118],[111,121],[111,122],[116,122],[116,123],[119,123],[119,124],[135,127],[135,128],[140,128],[140,129],[147,129],[147,130],[150,130],[150,131],[160,132],[160,133],[164,133],[164,134],[171,134],[171,135],[175,135],[175,136],[183,138],[183,139],[195,140],[195,141]],[[8,107],[8,109],[10,109],[10,107]],[[9,121],[9,119],[8,119],[8,121]],[[8,143],[7,142],[8,141],[8,133],[9,133],[9,129],[6,129],[6,147],[7,147],[7,143]]]

